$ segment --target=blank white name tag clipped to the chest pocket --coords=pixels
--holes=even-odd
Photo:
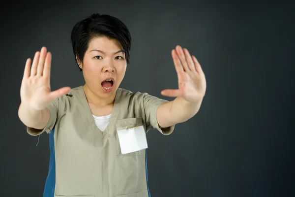
[[[148,148],[144,126],[119,128],[117,131],[122,154],[132,153]]]

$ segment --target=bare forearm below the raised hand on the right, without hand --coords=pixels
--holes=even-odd
[[[182,98],[166,102],[157,111],[157,120],[161,128],[170,127],[178,123],[183,123],[199,111],[202,100],[198,102],[188,102]]]

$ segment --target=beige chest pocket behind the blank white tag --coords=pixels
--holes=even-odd
[[[120,144],[119,144],[119,139],[118,139],[118,129],[121,128],[132,128],[132,127],[140,127],[143,126],[145,129],[145,133],[146,133],[146,127],[145,124],[143,123],[143,119],[142,118],[125,118],[125,119],[120,119],[117,120],[116,122],[116,152],[117,152],[117,156],[141,156],[145,154],[145,149],[144,150],[140,150],[140,151],[135,151],[132,153],[127,153],[127,154],[122,154],[121,153],[121,149],[120,149]]]

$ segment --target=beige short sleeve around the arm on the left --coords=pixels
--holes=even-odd
[[[50,118],[49,118],[49,121],[48,121],[47,125],[45,126],[45,128],[43,130],[38,130],[38,129],[27,127],[27,132],[30,135],[33,135],[33,136],[40,135],[44,131],[46,131],[47,133],[50,133],[53,130],[53,128],[54,128],[54,126],[56,124],[56,121],[57,121],[57,117],[58,117],[59,98],[54,99],[47,106],[47,108],[49,109],[49,112],[50,112]]]

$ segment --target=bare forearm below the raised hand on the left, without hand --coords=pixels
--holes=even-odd
[[[41,111],[37,111],[29,109],[25,104],[21,103],[18,116],[27,127],[43,129],[49,121],[50,113],[47,107]]]

